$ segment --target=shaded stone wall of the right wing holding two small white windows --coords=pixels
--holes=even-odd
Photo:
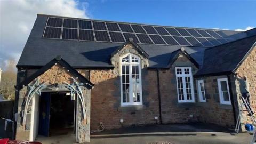
[[[223,105],[220,103],[218,91],[218,78],[227,78],[227,76],[211,76],[196,78],[204,80],[206,102],[199,102],[198,109],[200,116],[198,120],[205,123],[213,123],[225,127],[234,127],[234,115],[232,105]],[[229,87],[229,90],[230,87]],[[231,91],[230,91],[231,97]]]

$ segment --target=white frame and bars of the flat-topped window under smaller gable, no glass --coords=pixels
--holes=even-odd
[[[177,69],[182,70],[182,74],[177,74]],[[189,74],[185,74],[185,69],[189,69]],[[193,74],[191,67],[175,67],[175,75],[176,75],[176,85],[177,85],[177,96],[178,96],[178,102],[179,103],[185,103],[185,102],[195,102],[195,94],[194,94],[194,81],[193,81]],[[178,87],[178,77],[182,77],[182,85],[183,85],[183,95],[184,100],[179,99],[179,87]],[[187,99],[187,91],[186,91],[186,81],[185,78],[190,78],[190,89],[191,89],[191,100]]]

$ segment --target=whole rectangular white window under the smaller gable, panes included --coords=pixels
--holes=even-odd
[[[175,67],[178,102],[195,102],[191,67]]]

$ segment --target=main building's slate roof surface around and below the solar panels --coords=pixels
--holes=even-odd
[[[57,55],[61,55],[61,57],[74,68],[113,68],[110,62],[111,53],[117,50],[123,43],[42,38],[48,17],[49,15],[37,15],[33,29],[31,30],[17,64],[18,68],[30,66],[42,67]],[[232,34],[233,31],[228,31],[228,33]],[[238,33],[234,31],[233,34],[233,38],[241,39],[249,35],[254,35],[255,30],[251,30],[250,33]],[[219,55],[211,55],[210,53],[205,54],[207,47],[155,44],[138,45],[149,55],[149,68],[168,67],[170,59],[172,55],[174,55],[172,52],[181,49],[181,47],[185,48],[185,51],[198,63],[200,68],[203,67],[203,63],[207,64],[207,59],[204,60],[204,58],[219,57]],[[215,48],[210,48],[209,51],[207,51],[210,52],[211,49]],[[225,46],[222,46],[222,49],[225,50]],[[221,52],[222,50],[219,51]],[[228,50],[226,52],[228,52]],[[207,56],[204,57],[204,55]],[[203,67],[203,69],[207,71],[206,66]],[[204,71],[202,70],[200,73],[203,74],[205,73]],[[200,73],[198,71],[198,74]]]

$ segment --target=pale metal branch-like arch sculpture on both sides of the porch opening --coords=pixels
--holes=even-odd
[[[67,89],[71,91],[71,94],[77,94],[78,98],[81,102],[82,106],[82,113],[83,113],[83,119],[86,119],[86,114],[85,114],[85,103],[84,103],[84,95],[82,91],[82,86],[85,85],[84,83],[78,83],[75,78],[71,77],[73,79],[73,83],[69,84],[67,82],[64,82],[64,84],[67,86]],[[26,124],[26,118],[27,118],[27,112],[28,112],[28,107],[30,101],[33,99],[35,93],[38,95],[41,95],[41,91],[45,88],[47,88],[47,85],[45,85],[47,82],[44,83],[39,83],[39,78],[36,79],[36,82],[34,84],[29,84],[28,86],[30,87],[30,90],[28,92],[27,97],[25,98],[25,108],[22,111],[22,125],[24,126],[25,129],[25,124]]]

